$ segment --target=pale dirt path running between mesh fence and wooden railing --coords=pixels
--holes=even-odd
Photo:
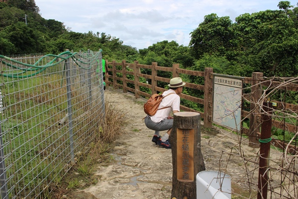
[[[135,99],[131,93],[125,94],[122,90],[112,88],[105,91],[105,97],[126,113],[125,133],[117,140],[111,152],[116,161],[109,166],[98,165],[94,175],[98,176],[99,182],[80,192],[88,195],[84,197],[86,199],[170,199],[171,150],[151,142],[153,131],[145,126],[142,119],[145,116],[143,104],[146,100]],[[161,135],[164,133],[161,132]],[[237,137],[222,130],[202,131],[201,137],[206,170],[219,171],[220,160],[223,167],[229,158],[227,155],[222,156],[222,151],[230,151],[237,143]],[[248,147],[245,151],[256,153]],[[230,159],[228,162],[226,173],[245,176],[245,168],[240,159]],[[245,189],[240,181],[238,183]]]

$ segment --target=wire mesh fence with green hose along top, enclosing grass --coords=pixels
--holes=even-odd
[[[0,56],[1,199],[42,198],[92,148],[105,112],[101,57]]]

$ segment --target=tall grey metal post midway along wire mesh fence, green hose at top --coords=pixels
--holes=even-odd
[[[73,118],[72,118],[72,90],[71,90],[71,77],[70,77],[70,61],[68,58],[66,65],[66,84],[67,84],[67,110],[69,116],[69,128],[70,128],[70,147],[71,147],[71,163],[74,163],[74,137],[73,137]]]

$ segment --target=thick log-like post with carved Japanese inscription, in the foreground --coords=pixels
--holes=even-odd
[[[171,199],[196,199],[196,176],[205,170],[201,151],[201,114],[174,113],[169,141],[172,149]]]

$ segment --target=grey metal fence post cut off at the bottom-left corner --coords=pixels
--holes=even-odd
[[[0,125],[0,186],[1,186],[1,199],[8,199],[1,125]]]

